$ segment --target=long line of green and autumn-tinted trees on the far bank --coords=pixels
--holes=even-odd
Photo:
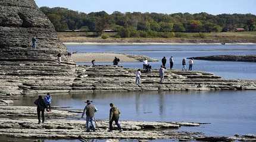
[[[101,35],[103,30],[115,30],[117,37],[172,37],[173,32],[226,32],[235,31],[236,28],[256,31],[256,15],[252,14],[123,14],[118,11],[113,14],[105,11],[85,14],[59,7],[40,9],[48,16],[57,31],[84,30],[95,31]]]

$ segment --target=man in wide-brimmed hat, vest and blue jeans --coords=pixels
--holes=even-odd
[[[86,106],[85,109],[83,109],[83,114],[82,114],[82,118],[83,116],[86,114],[86,131],[89,132],[90,131],[90,126],[89,126],[89,122],[92,125],[92,130],[95,131],[95,124],[93,122],[93,118],[94,118],[94,114],[95,112],[98,111],[98,109],[96,109],[96,107],[91,103],[92,101],[87,100],[86,101]]]

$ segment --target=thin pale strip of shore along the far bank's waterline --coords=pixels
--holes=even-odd
[[[221,45],[220,43],[91,43],[64,42],[65,45]],[[256,43],[226,43],[226,45],[256,45]]]

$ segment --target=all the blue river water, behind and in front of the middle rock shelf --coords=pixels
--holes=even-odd
[[[255,45],[68,45],[67,47],[71,52],[143,54],[158,60],[163,56],[174,56],[176,69],[180,69],[183,57],[256,54]],[[158,68],[160,64],[160,62],[151,63],[154,68]],[[142,67],[141,62],[121,63],[121,65]],[[256,63],[195,60],[194,69],[213,72],[227,79],[256,79]],[[15,101],[15,105],[33,106],[35,99],[36,97],[23,98]],[[203,122],[210,124],[201,127],[182,127],[180,130],[198,131],[207,135],[256,134],[256,91],[70,93],[54,95],[52,103],[54,106],[83,109],[85,106],[83,101],[86,99],[93,100],[99,109],[96,114],[96,119],[99,120],[108,119],[110,109],[108,104],[113,102],[121,110],[121,120]]]

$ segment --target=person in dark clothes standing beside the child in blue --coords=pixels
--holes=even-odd
[[[38,96],[38,99],[34,102],[35,105],[38,106],[37,111],[38,111],[38,124],[40,124],[40,113],[42,112],[42,122],[45,122],[45,109],[48,111],[48,108],[45,104],[45,101],[43,101],[42,96]]]

